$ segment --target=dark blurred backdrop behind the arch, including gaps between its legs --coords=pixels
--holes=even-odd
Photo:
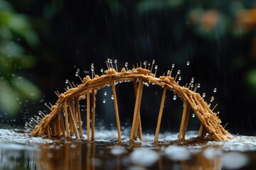
[[[18,105],[16,110],[8,108],[4,99],[0,100],[2,126],[23,126],[38,111],[47,113],[44,103],[55,103],[58,98],[54,91],[64,91],[65,79],[80,84],[75,77],[77,69],[80,77],[85,77],[93,63],[95,72],[101,74],[100,69],[106,69],[105,60],[111,58],[118,60],[119,69],[125,62],[132,68],[137,62],[156,60],[157,76],[176,64],[174,73],[181,69],[181,84],[194,77],[195,83],[201,84],[198,92],[206,93],[206,101],[215,96],[212,107],[218,103],[215,111],[220,111],[220,119],[223,125],[228,123],[226,128],[230,132],[255,135],[255,2],[1,0],[0,4],[3,2],[9,7],[2,6],[1,10],[26,16],[21,21],[28,23],[27,29],[34,37],[27,35],[25,29],[18,32],[15,26],[11,28],[6,22],[12,20],[10,17],[0,21],[1,28],[9,28],[12,34],[8,37],[0,31],[0,45],[5,47],[4,42],[14,42],[23,49],[21,57],[26,55],[28,61],[33,61],[17,69],[23,61],[21,57],[10,57],[8,52],[1,55],[9,67],[0,64],[0,82],[7,84],[9,94],[19,98],[19,103],[13,98],[13,106]],[[187,61],[191,63],[189,66]],[[18,90],[13,74],[33,84],[38,89],[36,95]],[[26,84],[24,87],[29,89]],[[217,93],[213,93],[214,88]],[[3,88],[0,92],[5,93]],[[161,87],[144,86],[141,110],[144,132],[154,132],[161,93]],[[130,127],[134,109],[132,84],[118,84],[117,94],[121,125]],[[115,128],[111,95],[110,88],[98,91],[98,127]],[[166,95],[161,130],[178,131],[182,102],[174,101],[171,91]],[[104,99],[106,103],[102,103]],[[191,116],[188,130],[198,127],[198,120]]]

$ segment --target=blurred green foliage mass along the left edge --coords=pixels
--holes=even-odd
[[[20,113],[23,101],[41,98],[41,91],[19,75],[21,69],[36,64],[35,57],[28,55],[23,47],[26,45],[39,45],[29,18],[16,13],[7,1],[0,0],[0,113],[16,115]]]

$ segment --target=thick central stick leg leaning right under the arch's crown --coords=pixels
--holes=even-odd
[[[130,135],[130,140],[132,141],[135,137],[137,137],[137,130],[139,126],[139,110],[140,110],[140,105],[142,101],[142,89],[143,89],[143,81],[139,81],[139,88],[137,90],[137,95],[136,95],[136,102],[135,102],[135,108],[134,108],[134,117],[132,120],[132,130],[131,130],[131,135]]]

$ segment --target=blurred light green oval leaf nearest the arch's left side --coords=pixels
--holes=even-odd
[[[33,101],[41,98],[41,91],[34,84],[32,84],[31,81],[28,81],[28,79],[23,77],[14,77],[12,84],[14,85],[14,88],[18,89],[23,96],[26,96]]]

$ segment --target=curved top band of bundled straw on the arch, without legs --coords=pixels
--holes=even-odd
[[[210,106],[203,100],[200,94],[191,91],[186,86],[180,86],[178,82],[174,81],[174,77],[161,76],[156,77],[149,69],[138,67],[137,69],[126,70],[122,68],[121,72],[116,72],[115,69],[105,70],[105,74],[101,76],[95,75],[92,79],[87,76],[82,80],[82,84],[68,89],[63,94],[60,94],[58,101],[54,106],[51,106],[51,112],[41,120],[38,125],[31,132],[32,136],[41,136],[46,133],[47,126],[55,120],[56,115],[61,113],[64,109],[65,101],[81,100],[86,98],[87,91],[97,91],[105,86],[128,81],[143,81],[144,84],[155,84],[164,87],[170,91],[174,91],[184,102],[187,102],[191,109],[201,121],[202,125],[206,128],[210,137],[216,141],[225,141],[230,138],[230,134],[220,125],[221,120],[218,118],[217,113],[213,113]]]

